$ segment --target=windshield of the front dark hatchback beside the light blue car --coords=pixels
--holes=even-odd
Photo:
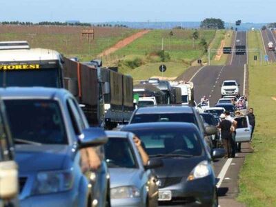
[[[139,129],[137,135],[150,157],[158,155],[201,155],[201,143],[196,130]]]

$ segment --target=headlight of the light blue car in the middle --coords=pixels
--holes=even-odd
[[[139,189],[135,186],[121,186],[118,188],[112,188],[111,199],[126,199],[140,197]]]

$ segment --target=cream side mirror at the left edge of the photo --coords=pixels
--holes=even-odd
[[[18,193],[18,167],[15,161],[0,162],[0,198],[12,199]]]

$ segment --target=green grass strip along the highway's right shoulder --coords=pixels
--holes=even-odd
[[[261,47],[259,31],[248,33],[250,48]],[[250,55],[252,56],[252,55]],[[239,201],[247,206],[276,206],[276,64],[254,66],[250,57],[249,103],[255,110],[254,152],[247,155],[239,177]]]

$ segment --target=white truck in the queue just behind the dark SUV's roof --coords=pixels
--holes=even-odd
[[[185,81],[170,81],[170,86],[181,88],[182,105],[194,102],[194,84]]]

